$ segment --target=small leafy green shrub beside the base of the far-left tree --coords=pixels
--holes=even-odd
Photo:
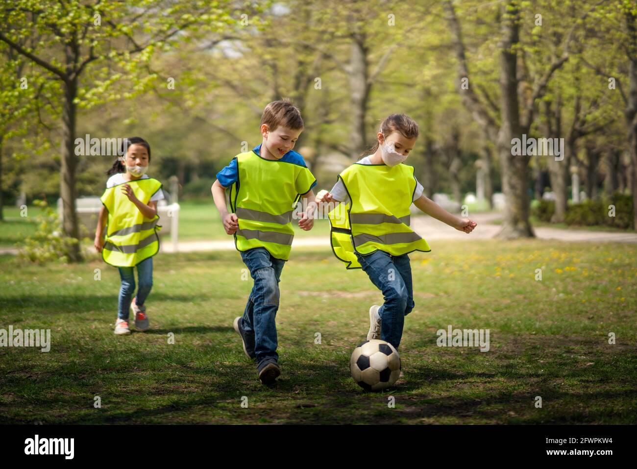
[[[61,220],[47,201],[34,200],[33,203],[41,208],[41,213],[36,217],[38,229],[33,235],[27,236],[20,246],[20,259],[36,264],[54,261],[68,263],[73,246],[79,241],[64,235]]]

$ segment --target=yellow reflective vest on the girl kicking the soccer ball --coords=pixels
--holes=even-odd
[[[409,227],[416,190],[412,166],[355,163],[338,177],[350,203],[340,203],[328,217],[334,256],[347,263],[346,268],[361,268],[355,252],[366,255],[382,250],[402,256],[431,250]]]

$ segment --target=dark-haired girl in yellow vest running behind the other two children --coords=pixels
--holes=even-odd
[[[164,198],[162,184],[146,173],[150,164],[150,145],[140,137],[124,141],[124,163],[120,157],[106,172],[106,182],[95,232],[95,249],[102,253],[107,264],[119,268],[122,287],[119,292],[115,334],[131,333],[128,327],[129,308],[135,314],[135,328],[148,329],[148,315],[144,304],[153,285],[153,258],[159,252],[157,236],[157,201]],[[104,223],[106,239],[104,239]],[[137,266],[139,287],[135,291],[133,267]]]

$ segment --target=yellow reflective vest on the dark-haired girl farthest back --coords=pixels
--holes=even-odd
[[[154,219],[144,217],[122,192],[123,184],[129,184],[135,196],[145,204],[162,184],[153,178],[132,180],[109,187],[100,198],[108,210],[102,259],[112,266],[132,267],[159,252],[157,231],[161,226],[157,226],[159,215]]]

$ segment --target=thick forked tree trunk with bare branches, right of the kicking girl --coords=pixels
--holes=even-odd
[[[508,0],[499,11],[499,117],[490,111],[492,100],[485,93],[478,93],[475,87],[463,87],[463,83],[478,82],[469,73],[466,47],[454,4],[445,1],[447,21],[454,41],[454,52],[457,60],[457,89],[462,97],[463,105],[473,115],[480,126],[485,128],[489,139],[496,143],[497,154],[501,166],[503,192],[506,196],[505,219],[499,236],[502,238],[519,238],[534,236],[529,222],[529,162],[532,155],[513,155],[513,139],[522,140],[522,135],[529,134],[536,117],[539,99],[544,96],[549,80],[554,72],[569,58],[569,47],[578,25],[576,21],[569,29],[564,40],[557,48],[548,48],[549,66],[543,69],[529,67],[524,41],[531,45],[537,41],[536,35],[527,32],[522,25],[522,3],[519,0]],[[586,11],[580,21],[587,16]],[[561,25],[562,26],[562,25]],[[533,52],[533,48],[529,48]],[[468,80],[468,81],[467,81]]]

